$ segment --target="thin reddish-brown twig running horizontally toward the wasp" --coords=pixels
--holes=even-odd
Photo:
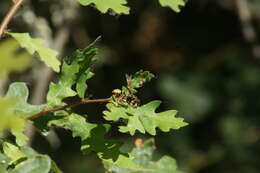
[[[38,113],[35,113],[35,114],[32,114],[28,117],[26,117],[25,119],[27,120],[30,120],[30,119],[34,119],[40,115],[43,115],[43,114],[47,114],[47,113],[50,113],[50,112],[56,112],[56,111],[61,111],[61,110],[65,110],[67,108],[72,108],[74,106],[77,106],[77,105],[80,105],[80,104],[86,104],[86,103],[104,103],[104,102],[109,102],[110,101],[110,98],[105,98],[105,99],[93,99],[93,100],[90,100],[90,99],[81,99],[80,101],[77,101],[77,102],[74,102],[74,103],[71,103],[71,104],[67,104],[65,106],[61,106],[61,107],[57,107],[57,108],[52,108],[52,109],[45,109],[45,110],[42,110],[41,112],[38,112]]]

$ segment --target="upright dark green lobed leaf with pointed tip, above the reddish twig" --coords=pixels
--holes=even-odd
[[[97,49],[94,48],[98,37],[84,50],[76,50],[72,56],[66,57],[61,68],[60,80],[57,84],[51,83],[47,94],[47,103],[50,107],[63,105],[63,99],[76,96],[84,98],[87,89],[86,80],[94,74],[92,65],[96,62]],[[73,86],[76,84],[76,91]]]

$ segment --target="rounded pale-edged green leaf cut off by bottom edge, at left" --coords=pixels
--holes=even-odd
[[[38,155],[21,162],[10,173],[48,173],[50,169],[51,159],[46,155]]]

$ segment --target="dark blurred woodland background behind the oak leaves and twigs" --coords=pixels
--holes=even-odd
[[[160,99],[160,110],[176,109],[189,126],[155,137],[156,156],[174,157],[187,173],[258,173],[260,170],[260,1],[189,0],[180,13],[157,0],[128,2],[130,15],[101,14],[73,0],[27,0],[9,28],[47,40],[60,58],[96,37],[99,62],[88,94],[106,98],[139,69],[156,75],[139,92],[142,103]],[[11,1],[1,0],[2,20]],[[0,42],[1,44],[1,42]],[[22,74],[1,82],[25,81],[31,103],[45,101],[56,74],[38,60]],[[104,104],[81,105],[89,121],[102,121]],[[32,129],[30,144],[50,154],[65,173],[102,173],[96,156],[80,153],[80,140],[54,129]],[[137,137],[111,133],[133,145]]]

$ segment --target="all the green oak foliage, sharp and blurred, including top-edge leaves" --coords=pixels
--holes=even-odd
[[[129,14],[125,0],[78,0],[82,5],[95,4],[102,13],[108,10],[117,14]],[[16,2],[15,2],[16,3]],[[170,6],[176,12],[184,1],[160,1],[162,6]],[[115,89],[105,99],[90,99],[86,90],[87,80],[94,76],[92,66],[96,63],[96,39],[83,50],[76,50],[60,63],[58,53],[43,45],[39,38],[31,38],[28,33],[6,32],[18,41],[31,55],[35,53],[48,67],[59,72],[58,81],[50,83],[47,102],[42,105],[28,103],[29,90],[25,83],[14,82],[4,97],[0,98],[0,133],[9,130],[15,136],[15,142],[6,139],[1,141],[0,171],[3,173],[61,173],[58,166],[47,155],[39,154],[27,146],[28,137],[24,131],[32,123],[40,132],[49,131],[50,127],[70,130],[73,137],[81,139],[83,154],[96,153],[108,171],[112,172],[172,172],[177,171],[176,162],[168,156],[157,162],[151,161],[152,145],[150,142],[140,144],[131,153],[121,151],[123,142],[108,138],[111,127],[119,128],[119,132],[134,135],[136,131],[156,135],[156,128],[163,132],[179,129],[187,125],[183,118],[176,118],[177,111],[168,110],[156,113],[161,101],[141,104],[137,97],[138,89],[149,82],[154,75],[140,70],[134,75],[126,75],[126,86]],[[7,40],[1,45],[4,58],[0,77],[12,71],[22,71],[28,67],[30,58],[27,54],[16,56],[17,46]],[[5,47],[6,46],[6,47]],[[18,61],[17,61],[18,60]],[[2,63],[3,62],[3,63]],[[13,65],[19,63],[20,66]],[[8,65],[8,64],[12,65]],[[107,102],[103,111],[104,122],[89,122],[88,116],[74,109],[79,104]],[[114,123],[116,122],[116,123]],[[118,127],[117,127],[118,126]]]

